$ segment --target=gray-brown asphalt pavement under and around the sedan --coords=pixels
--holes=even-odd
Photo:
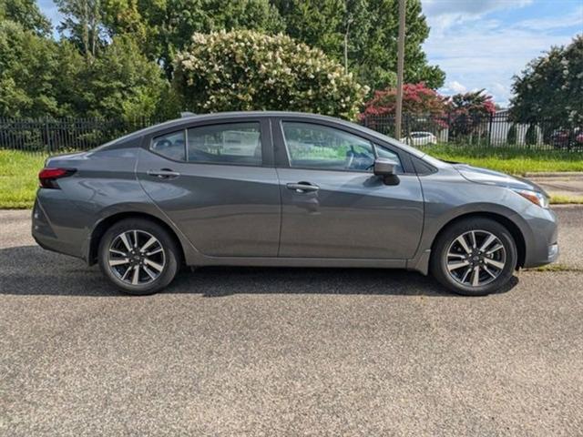
[[[0,211],[0,435],[581,435],[583,208],[561,271],[448,294],[379,269],[199,269],[159,295]]]

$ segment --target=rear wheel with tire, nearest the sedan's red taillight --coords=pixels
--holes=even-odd
[[[119,290],[147,295],[164,289],[179,269],[169,232],[148,219],[124,219],[99,242],[99,267]]]

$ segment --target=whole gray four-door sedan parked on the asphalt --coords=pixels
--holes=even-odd
[[[536,185],[312,114],[183,117],[48,158],[39,179],[38,244],[131,294],[221,265],[411,269],[484,295],[558,255]]]

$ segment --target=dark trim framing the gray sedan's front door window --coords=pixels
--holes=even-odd
[[[287,141],[285,139],[285,131],[283,130],[283,124],[284,123],[302,123],[303,125],[313,125],[316,127],[328,127],[328,128],[332,128],[335,130],[340,130],[341,132],[344,132],[346,134],[352,135],[353,137],[358,137],[360,139],[362,139],[363,141],[368,142],[371,145],[371,148],[373,150],[373,155],[374,155],[374,159],[378,158],[378,153],[376,151],[376,147],[383,147],[386,148],[387,150],[393,152],[397,158],[399,158],[399,164],[400,167],[403,169],[402,173],[399,173],[399,175],[408,175],[411,174],[410,172],[406,171],[406,167],[404,164],[404,152],[399,150],[394,150],[394,148],[392,147],[385,147],[383,145],[380,145],[378,141],[373,141],[371,138],[363,136],[363,135],[359,135],[357,133],[354,133],[352,130],[349,129],[343,129],[343,127],[339,127],[338,125],[335,124],[327,124],[327,123],[319,123],[319,122],[314,122],[312,120],[306,120],[304,118],[288,118],[288,117],[283,117],[283,118],[279,118],[278,119],[279,123],[279,134],[281,136],[281,144],[283,146],[283,149],[285,151],[285,158],[286,158],[286,167],[285,168],[290,168],[290,169],[294,169],[294,170],[316,170],[316,171],[341,171],[343,173],[362,173],[362,174],[373,174],[373,168],[368,169],[368,170],[361,170],[361,169],[348,169],[348,168],[314,168],[314,167],[292,167],[292,158],[290,157],[290,151],[288,148],[288,144]],[[275,143],[274,143],[275,144]],[[277,164],[281,164],[278,163],[278,156],[277,156],[277,151],[276,151],[276,167],[281,168],[281,165],[277,165]],[[281,155],[281,154],[280,154]],[[406,155],[406,154],[405,154]],[[281,156],[279,157],[281,158]],[[281,160],[281,159],[280,159]]]

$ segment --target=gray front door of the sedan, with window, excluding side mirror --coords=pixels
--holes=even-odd
[[[424,203],[404,152],[333,122],[274,120],[281,190],[280,257],[409,259]],[[375,156],[397,161],[398,185],[373,175]]]

